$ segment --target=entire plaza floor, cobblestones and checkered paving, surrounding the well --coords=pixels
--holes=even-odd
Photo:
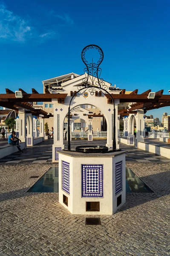
[[[52,143],[0,159],[0,256],[170,255],[169,159],[120,144],[128,150],[126,166],[154,193],[127,193],[118,212],[99,216],[101,225],[85,225],[86,215],[63,208],[58,193],[27,193],[50,167],[58,166],[52,163]]]

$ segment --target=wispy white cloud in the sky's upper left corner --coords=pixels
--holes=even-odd
[[[0,4],[0,39],[24,42],[27,37],[32,35],[32,27],[28,21],[6,9]]]

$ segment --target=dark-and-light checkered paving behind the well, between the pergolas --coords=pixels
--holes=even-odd
[[[106,140],[93,140],[92,142],[88,142],[87,140],[72,140],[71,148],[75,148],[76,146],[80,145],[80,143],[81,145],[106,145]],[[52,144],[53,140],[46,140],[42,143],[24,149],[23,153],[18,151],[14,154],[3,157],[0,159],[0,163],[51,163]],[[64,141],[64,144],[67,148],[66,141]],[[119,145],[122,150],[127,151],[126,161],[135,161],[141,163],[170,162],[170,159],[166,157],[135,148],[134,146],[125,145],[123,143],[120,143]]]

